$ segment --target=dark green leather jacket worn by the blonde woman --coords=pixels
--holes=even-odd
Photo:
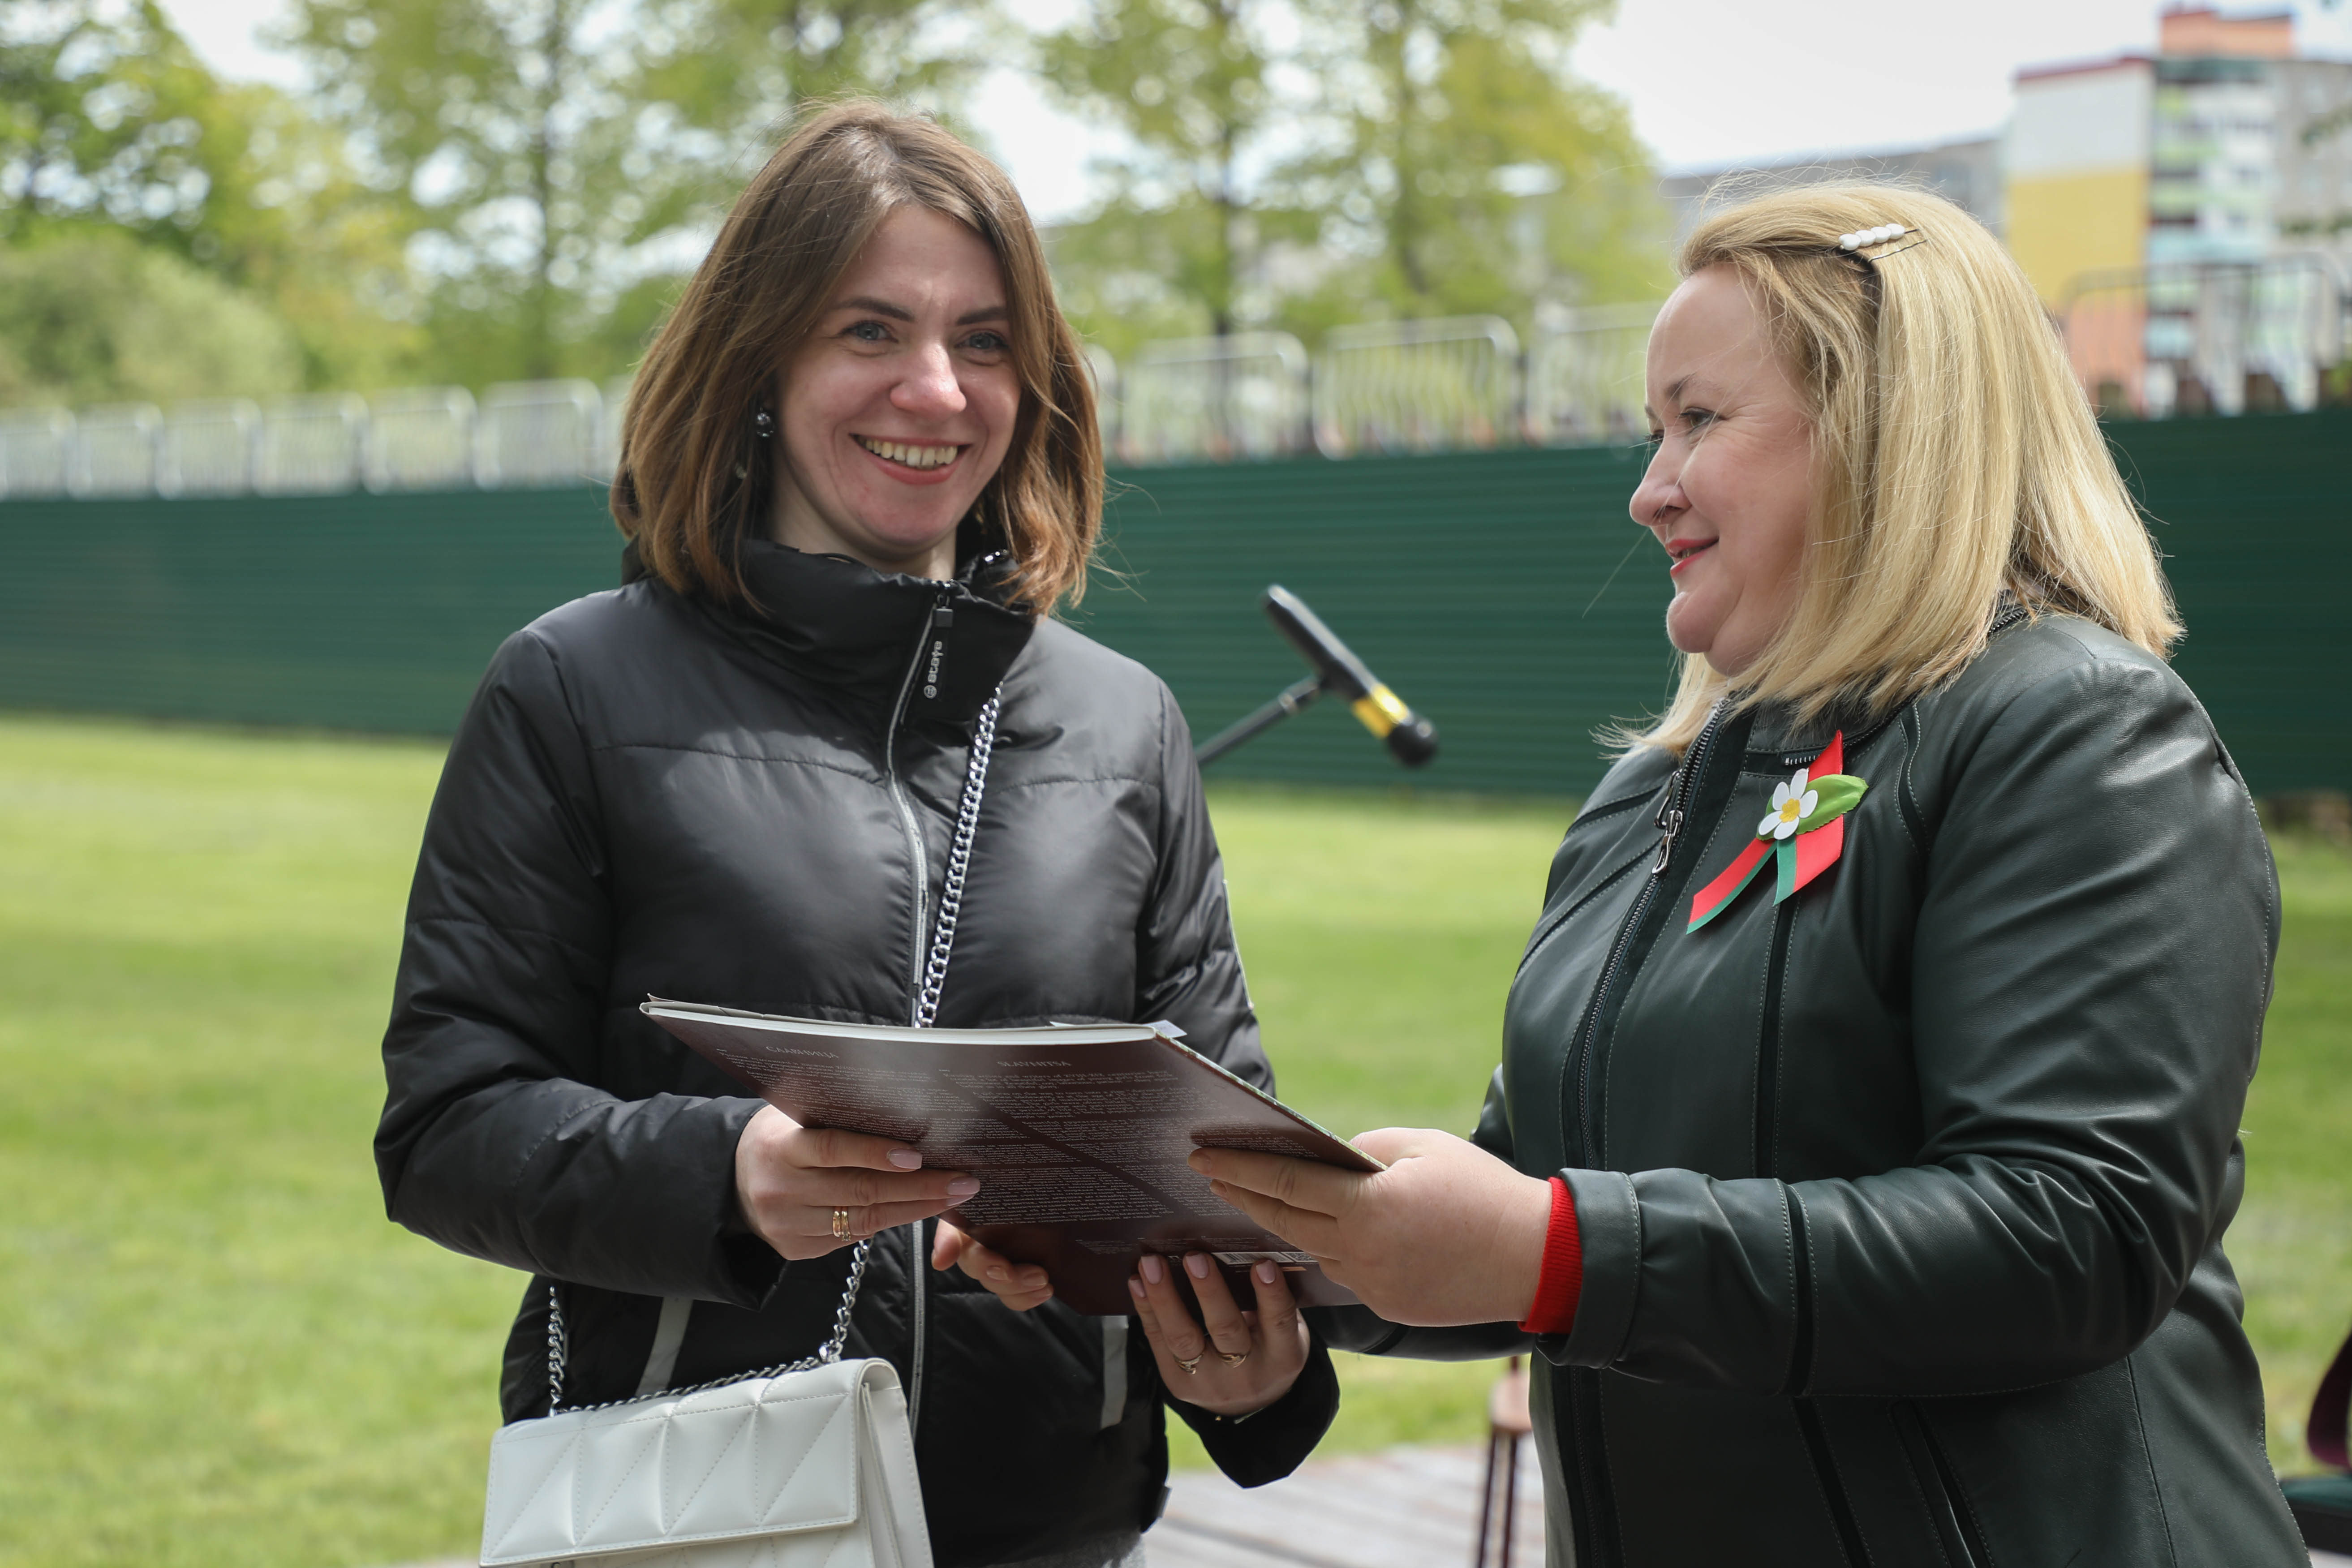
[[[2220,1248],[2279,898],[2211,722],[2091,623],[2004,628],[1846,729],[1832,870],[1684,931],[1830,729],[1625,757],[1512,983],[1477,1138],[1585,1248],[1552,1563],[2305,1563]]]

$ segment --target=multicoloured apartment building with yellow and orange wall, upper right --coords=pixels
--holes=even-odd
[[[2034,66],[2004,146],[2006,240],[2103,402],[2310,407],[2345,353],[2352,61],[2291,12],[2176,5],[2154,54]]]

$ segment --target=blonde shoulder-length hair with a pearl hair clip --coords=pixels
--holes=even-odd
[[[1839,235],[1917,230],[1879,261]],[[1682,752],[1719,696],[1884,715],[1985,649],[1997,595],[2161,656],[2180,635],[2154,541],[2058,331],[2002,244],[1907,186],[1778,190],[1703,221],[1682,277],[1733,268],[1813,428],[1813,515],[1788,623],[1738,677],[1698,654],[1628,745]]]

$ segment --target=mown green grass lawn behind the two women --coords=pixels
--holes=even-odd
[[[437,766],[0,719],[0,1563],[358,1568],[477,1537],[520,1279],[386,1225],[367,1157]],[[1465,1131],[1566,806],[1221,790],[1216,818],[1284,1095]],[[2232,1255],[2286,1467],[2352,1321],[2352,856],[2288,842],[2281,867]],[[1331,1448],[1482,1432],[1491,1368],[1343,1378]]]

